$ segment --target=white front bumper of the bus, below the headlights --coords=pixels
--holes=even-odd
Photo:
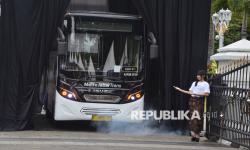
[[[143,111],[143,108],[144,96],[126,104],[103,104],[72,101],[56,92],[54,119],[56,121],[96,121],[93,116],[100,116],[111,118],[112,121],[140,122],[140,120],[131,119],[131,113]]]

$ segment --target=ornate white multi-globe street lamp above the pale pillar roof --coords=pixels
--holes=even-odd
[[[214,13],[212,16],[215,31],[218,33],[216,37],[219,38],[219,48],[223,47],[224,33],[228,30],[231,18],[232,12],[229,9],[221,9],[219,12]]]

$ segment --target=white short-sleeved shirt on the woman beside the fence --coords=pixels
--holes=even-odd
[[[210,93],[210,87],[206,81],[199,81],[197,86],[195,86],[195,83],[196,83],[196,81],[192,83],[192,85],[189,89],[194,94]]]

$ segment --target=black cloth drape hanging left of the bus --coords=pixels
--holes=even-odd
[[[69,0],[3,0],[0,127],[32,125],[42,70]]]

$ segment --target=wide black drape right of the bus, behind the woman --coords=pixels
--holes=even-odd
[[[147,62],[149,100],[146,101],[158,110],[186,110],[188,97],[174,91],[173,85],[188,89],[197,70],[206,69],[211,1],[132,2],[143,16],[148,31],[156,35],[159,45],[159,58]],[[114,11],[119,12],[119,9]],[[167,124],[179,129],[186,125],[178,121]]]

